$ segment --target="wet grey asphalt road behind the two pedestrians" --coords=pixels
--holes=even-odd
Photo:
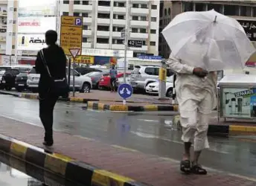
[[[1,115],[42,126],[37,100],[7,95],[0,95],[0,100]],[[183,151],[181,134],[173,128],[168,112],[95,112],[82,110],[81,104],[57,103],[54,129],[176,160]],[[202,153],[202,164],[256,178],[255,136],[210,137],[209,141],[211,148]]]

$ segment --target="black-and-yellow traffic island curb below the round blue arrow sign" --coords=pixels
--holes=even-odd
[[[150,112],[150,111],[178,111],[178,105],[173,106],[159,106],[159,105],[147,105],[147,106],[124,106],[124,105],[109,105],[104,103],[97,103],[88,101],[87,106],[83,106],[83,109],[93,110],[109,110],[109,111],[123,111],[123,112]]]

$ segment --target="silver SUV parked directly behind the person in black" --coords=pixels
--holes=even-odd
[[[28,74],[28,88],[32,92],[37,92],[38,83],[39,83],[40,74],[36,74],[35,69],[33,68]],[[90,77],[79,74],[77,71],[74,71],[74,87],[76,91],[88,93],[92,89],[92,80]],[[70,89],[73,89],[73,70],[71,69],[70,76]]]

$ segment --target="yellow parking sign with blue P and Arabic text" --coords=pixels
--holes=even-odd
[[[83,17],[79,16],[61,16],[60,26],[60,46],[66,55],[70,56],[69,49],[82,49],[83,38]]]

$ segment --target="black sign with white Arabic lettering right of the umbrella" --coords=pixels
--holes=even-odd
[[[256,42],[256,21],[237,20],[242,25],[246,35],[252,42]]]

